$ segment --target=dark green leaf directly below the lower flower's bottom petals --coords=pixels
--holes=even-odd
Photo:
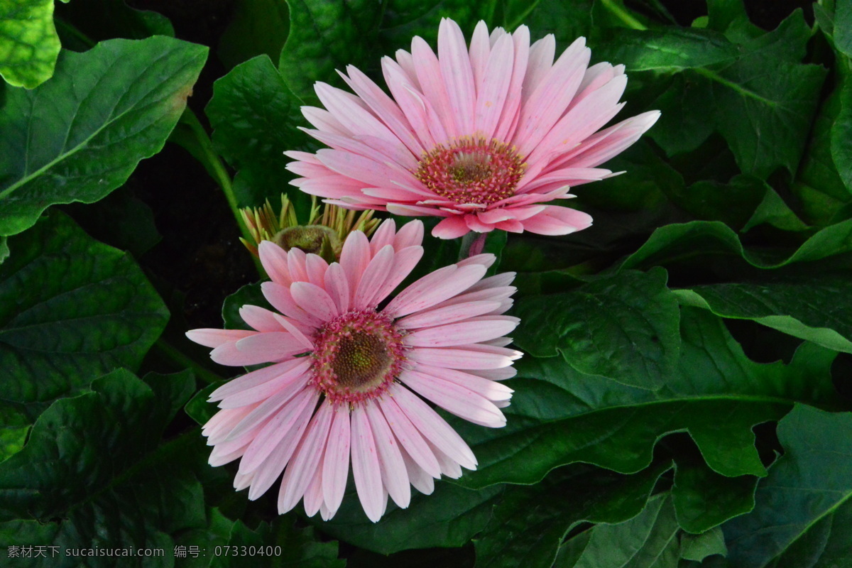
[[[438,482],[432,495],[412,491],[412,503],[406,509],[389,502],[387,513],[373,523],[366,518],[350,483],[333,519],[308,522],[342,541],[381,554],[409,548],[460,547],[485,527],[502,492],[499,485],[475,491]]]

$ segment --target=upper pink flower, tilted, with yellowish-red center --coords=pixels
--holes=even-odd
[[[589,65],[580,37],[554,62],[556,40],[530,45],[529,30],[490,36],[484,22],[470,45],[441,20],[438,55],[421,37],[411,53],[382,60],[389,97],[353,66],[352,95],[325,83],[325,109],[302,112],[329,149],[285,152],[304,192],[349,209],[443,217],[432,232],[561,235],[589,227],[589,215],[546,205],[571,186],[613,175],[597,168],[651,128],[645,112],[604,130],[624,103],[624,66]]]

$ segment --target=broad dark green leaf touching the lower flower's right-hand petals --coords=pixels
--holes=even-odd
[[[663,270],[620,273],[562,294],[522,299],[515,344],[535,357],[561,356],[590,375],[657,388],[677,361],[676,300]]]

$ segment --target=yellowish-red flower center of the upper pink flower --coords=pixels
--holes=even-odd
[[[465,136],[424,153],[414,175],[455,204],[490,205],[515,195],[526,169],[515,146]]]

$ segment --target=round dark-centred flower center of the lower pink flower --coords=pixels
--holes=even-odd
[[[314,345],[311,383],[334,403],[382,394],[405,360],[400,331],[372,309],[353,310],[327,322],[314,336]]]

